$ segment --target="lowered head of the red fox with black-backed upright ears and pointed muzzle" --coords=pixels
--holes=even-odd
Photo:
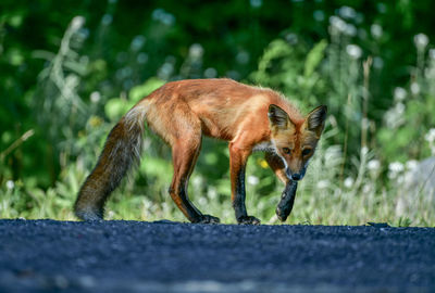
[[[291,180],[300,180],[314,154],[315,146],[325,127],[327,107],[318,106],[302,122],[291,122],[279,106],[269,106],[269,123],[275,152],[283,160],[286,175]]]

